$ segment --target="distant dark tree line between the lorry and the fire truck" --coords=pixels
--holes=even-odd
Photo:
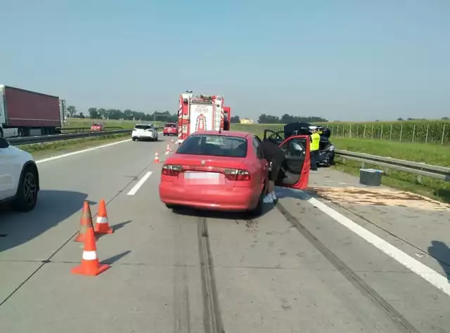
[[[86,118],[84,112],[77,112],[75,106],[67,107],[66,112],[72,118]],[[113,120],[134,120],[150,122],[176,122],[178,114],[171,114],[169,111],[155,111],[151,114],[133,110],[105,109],[103,107],[89,107],[87,110],[91,119],[113,119]]]

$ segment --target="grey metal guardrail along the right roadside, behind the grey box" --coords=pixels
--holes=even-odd
[[[384,166],[389,169],[431,177],[441,181],[450,181],[450,168],[445,166],[405,161],[404,159],[394,159],[392,157],[370,155],[362,152],[350,152],[349,150],[335,150],[335,153],[342,158],[353,161]]]

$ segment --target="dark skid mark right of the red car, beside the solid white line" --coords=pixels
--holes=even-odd
[[[349,268],[342,260],[335,256],[319,239],[317,239],[307,228],[305,228],[300,221],[297,220],[290,212],[283,207],[279,202],[276,204],[278,211],[283,214],[287,221],[289,221],[297,230],[319,251],[325,258],[335,266],[335,268],[347,278],[347,280],[356,287],[362,294],[368,296],[374,303],[378,304],[390,316],[392,322],[396,324],[404,332],[419,333],[416,327],[413,327],[406,318],[395,310],[390,303],[387,303],[380,294],[375,292],[369,285],[362,280],[359,275]]]

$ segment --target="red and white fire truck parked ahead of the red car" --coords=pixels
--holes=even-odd
[[[229,111],[228,111],[229,112]],[[229,130],[224,117],[224,98],[215,95],[181,93],[178,109],[178,143],[197,131]]]

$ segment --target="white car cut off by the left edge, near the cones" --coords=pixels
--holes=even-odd
[[[0,137],[0,203],[18,211],[31,211],[39,192],[39,171],[32,155]]]

